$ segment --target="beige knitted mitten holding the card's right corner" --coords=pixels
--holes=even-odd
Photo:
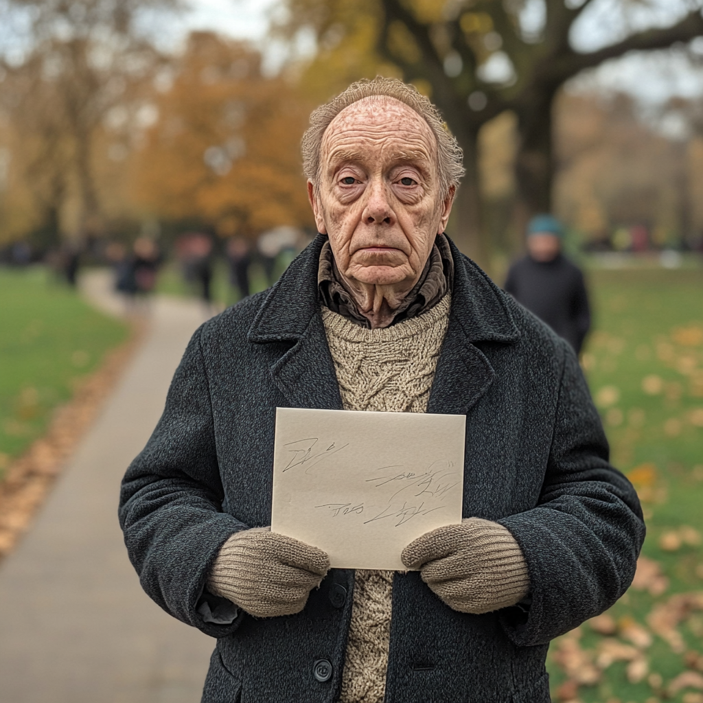
[[[408,569],[420,569],[427,586],[460,612],[515,605],[529,589],[527,564],[515,538],[503,525],[478,517],[423,534],[408,544],[401,559]]]

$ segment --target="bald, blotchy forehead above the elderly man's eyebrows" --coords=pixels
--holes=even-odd
[[[370,96],[344,108],[330,122],[322,140],[323,158],[329,155],[330,141],[336,141],[340,136],[354,140],[355,136],[373,138],[374,134],[382,136],[389,131],[403,134],[408,140],[408,148],[412,148],[413,143],[422,142],[430,150],[430,155],[434,157],[437,153],[434,132],[413,108],[390,96]]]

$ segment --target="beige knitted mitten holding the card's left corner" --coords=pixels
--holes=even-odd
[[[308,593],[329,568],[330,559],[321,549],[271,532],[270,527],[254,527],[224,543],[207,588],[250,615],[292,615],[305,607]]]

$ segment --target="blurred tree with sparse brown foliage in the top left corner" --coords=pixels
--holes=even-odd
[[[4,103],[22,136],[25,179],[56,223],[72,193],[75,236],[102,226],[94,174],[96,131],[165,60],[138,27],[139,13],[175,11],[181,0],[7,0],[29,20],[20,62],[2,59]]]

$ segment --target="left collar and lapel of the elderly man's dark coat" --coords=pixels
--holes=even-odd
[[[271,288],[249,330],[257,344],[294,342],[271,365],[271,377],[292,408],[341,410],[342,396],[320,314],[317,272],[325,242],[318,236]]]

